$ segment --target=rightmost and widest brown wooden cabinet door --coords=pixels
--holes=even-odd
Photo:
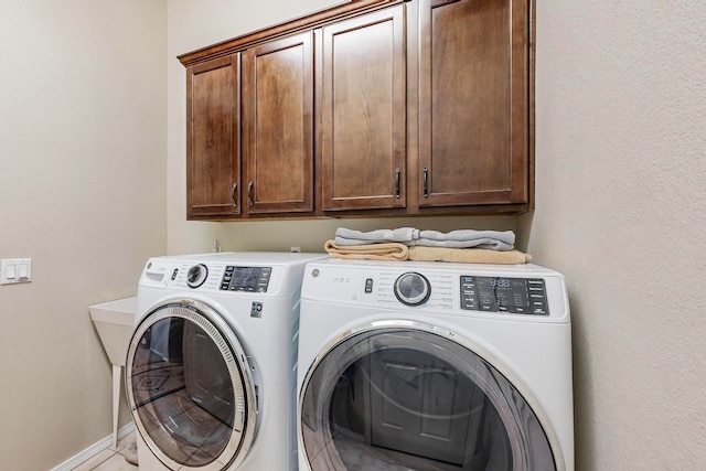
[[[527,202],[526,0],[420,0],[419,206]]]

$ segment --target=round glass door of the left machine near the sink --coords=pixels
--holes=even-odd
[[[212,308],[158,306],[132,334],[126,365],[137,429],[167,467],[221,471],[245,459],[257,390],[243,346]]]

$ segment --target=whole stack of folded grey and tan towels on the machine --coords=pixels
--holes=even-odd
[[[449,233],[413,227],[361,232],[340,227],[324,248],[338,258],[426,260],[469,264],[526,264],[528,254],[515,250],[512,231],[460,229]]]

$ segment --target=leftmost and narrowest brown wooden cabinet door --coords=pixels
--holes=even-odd
[[[237,215],[240,168],[239,55],[186,74],[186,216]]]

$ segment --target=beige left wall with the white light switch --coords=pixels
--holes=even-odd
[[[0,468],[49,470],[110,433],[88,306],[135,296],[165,232],[165,7],[4,1],[0,13]],[[122,424],[127,414],[122,415]]]

